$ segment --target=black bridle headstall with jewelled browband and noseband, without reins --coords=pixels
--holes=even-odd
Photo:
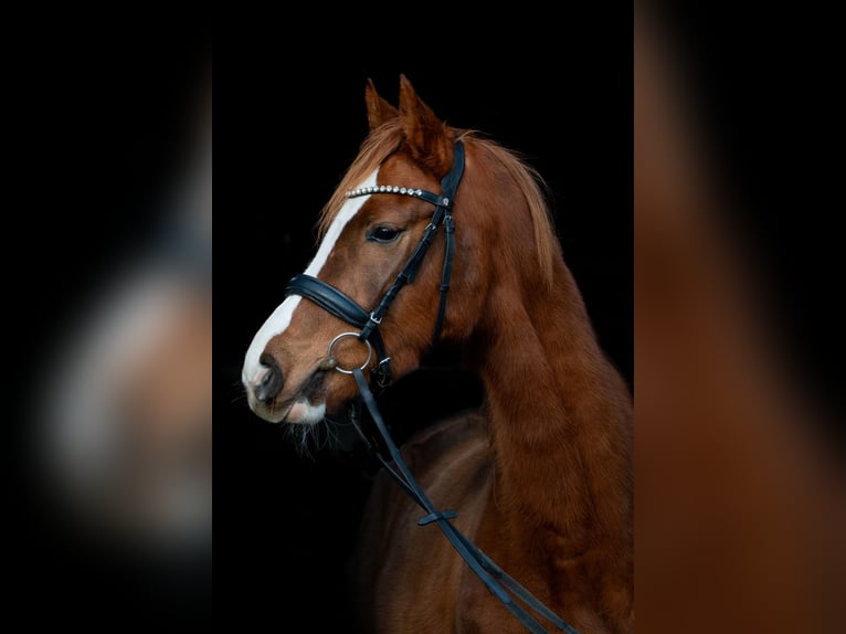
[[[394,297],[396,297],[400,289],[406,284],[414,282],[414,277],[416,277],[417,272],[420,271],[420,265],[423,263],[423,256],[426,254],[426,251],[429,251],[429,246],[432,244],[432,239],[437,232],[438,226],[443,223],[446,247],[444,249],[444,266],[441,274],[441,302],[437,308],[432,345],[434,346],[441,337],[441,328],[443,327],[444,315],[446,313],[446,293],[450,290],[450,278],[452,277],[453,271],[453,254],[455,252],[455,225],[452,215],[453,200],[455,199],[455,192],[458,189],[458,183],[462,180],[463,173],[464,144],[458,140],[455,141],[453,168],[450,170],[450,173],[441,179],[441,189],[443,189],[443,193],[433,193],[424,189],[389,184],[364,187],[347,192],[347,198],[358,198],[360,196],[370,196],[374,193],[410,196],[412,198],[425,200],[435,205],[432,220],[423,231],[423,236],[420,239],[420,242],[417,242],[414,252],[405,262],[402,270],[400,270],[393,284],[391,284],[382,296],[381,302],[379,302],[373,310],[366,310],[349,295],[339,290],[331,284],[327,284],[322,279],[318,279],[311,275],[295,275],[290,278],[285,288],[286,296],[302,295],[303,297],[307,297],[324,310],[361,329],[360,332],[358,332],[359,340],[372,344],[376,349],[378,359],[376,366],[370,369],[370,376],[380,389],[384,389],[391,384],[392,373],[390,367],[391,358],[385,352],[384,341],[379,331],[379,325],[382,323],[382,318],[385,313],[388,313],[388,308],[391,306],[391,303]]]

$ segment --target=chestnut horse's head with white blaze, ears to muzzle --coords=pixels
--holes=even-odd
[[[349,376],[332,370],[360,368],[372,378],[390,357],[392,374],[405,374],[420,366],[433,330],[438,339],[458,338],[480,311],[475,299],[479,294],[470,292],[478,276],[468,258],[487,250],[474,245],[470,234],[459,235],[451,279],[444,279],[442,267],[445,234],[452,231],[452,200],[446,200],[442,180],[463,168],[456,166],[461,133],[438,119],[404,76],[399,107],[383,99],[372,82],[366,87],[366,103],[370,135],[324,208],[316,255],[296,292],[288,287],[290,294],[246,352],[242,381],[250,406],[267,421],[321,421],[357,393]],[[464,162],[463,154],[458,159]],[[456,188],[459,179],[461,172]],[[452,270],[452,250],[448,255]],[[396,292],[394,300],[398,276],[413,290]],[[304,284],[318,285],[318,293],[305,293]],[[438,314],[445,285],[454,290],[448,308]],[[326,288],[335,310],[321,302]],[[351,332],[350,311],[372,324],[356,324]],[[372,338],[359,336],[359,330],[377,327],[382,358]]]

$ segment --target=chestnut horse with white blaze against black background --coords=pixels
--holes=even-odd
[[[316,254],[246,351],[250,408],[316,427],[433,348],[457,350],[484,403],[400,454],[457,513],[437,519],[570,627],[633,632],[633,397],[564,263],[540,175],[441,120],[404,74],[396,106],[372,80],[364,97],[369,133],[322,209]],[[525,632],[443,535],[417,526],[391,475],[374,478],[353,556],[361,631]]]

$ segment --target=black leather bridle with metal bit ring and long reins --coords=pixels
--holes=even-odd
[[[356,379],[361,402],[363,402],[370,413],[376,426],[376,433],[373,431],[367,431],[361,425],[360,406],[352,408],[352,423],[359,435],[364,440],[370,452],[376,455],[389,475],[421,508],[423,508],[423,510],[426,511],[426,515],[417,520],[417,525],[425,526],[432,522],[436,524],[450,540],[453,548],[461,554],[473,572],[479,577],[487,589],[499,599],[511,614],[514,614],[530,632],[535,634],[544,634],[547,630],[535,616],[529,614],[526,607],[514,600],[514,596],[509,594],[509,591],[526,605],[553,623],[558,630],[568,632],[569,634],[578,634],[570,624],[558,616],[526,590],[526,588],[520,585],[515,579],[499,568],[499,566],[497,566],[450,522],[451,519],[454,519],[458,515],[455,510],[437,510],[435,508],[425,493],[421,489],[420,485],[417,485],[411,471],[402,459],[400,451],[393,443],[391,434],[379,412],[371,388],[362,373],[362,370],[370,366],[372,352],[376,350],[378,359],[376,364],[370,368],[370,376],[379,389],[384,389],[391,383],[391,358],[387,355],[379,326],[400,289],[414,281],[423,262],[423,256],[432,244],[432,240],[434,239],[438,226],[443,224],[445,236],[444,264],[441,274],[441,285],[438,287],[441,298],[437,317],[435,319],[432,345],[434,346],[441,337],[441,329],[443,328],[444,315],[446,313],[446,295],[450,289],[450,279],[452,277],[453,255],[455,252],[455,225],[453,222],[452,209],[458,183],[464,175],[464,144],[461,140],[456,140],[454,148],[453,167],[441,180],[441,189],[443,190],[443,193],[438,194],[423,189],[395,186],[372,186],[347,192],[347,198],[381,193],[410,196],[430,202],[435,207],[432,220],[423,231],[423,236],[420,239],[420,242],[417,242],[417,245],[405,262],[405,265],[400,270],[400,273],[373,310],[362,308],[357,302],[335,286],[311,275],[295,275],[288,282],[285,293],[286,296],[300,295],[306,297],[335,317],[360,328],[359,332],[341,332],[335,337],[329,344],[328,358],[332,361],[331,367],[335,370],[345,374],[351,374]],[[355,337],[367,346],[367,360],[360,367],[342,368],[334,361],[335,346],[338,341],[347,337]],[[388,454],[387,456],[385,451]]]

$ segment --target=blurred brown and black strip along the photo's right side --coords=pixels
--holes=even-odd
[[[844,98],[828,18],[636,6],[636,581],[649,632],[843,630]]]

